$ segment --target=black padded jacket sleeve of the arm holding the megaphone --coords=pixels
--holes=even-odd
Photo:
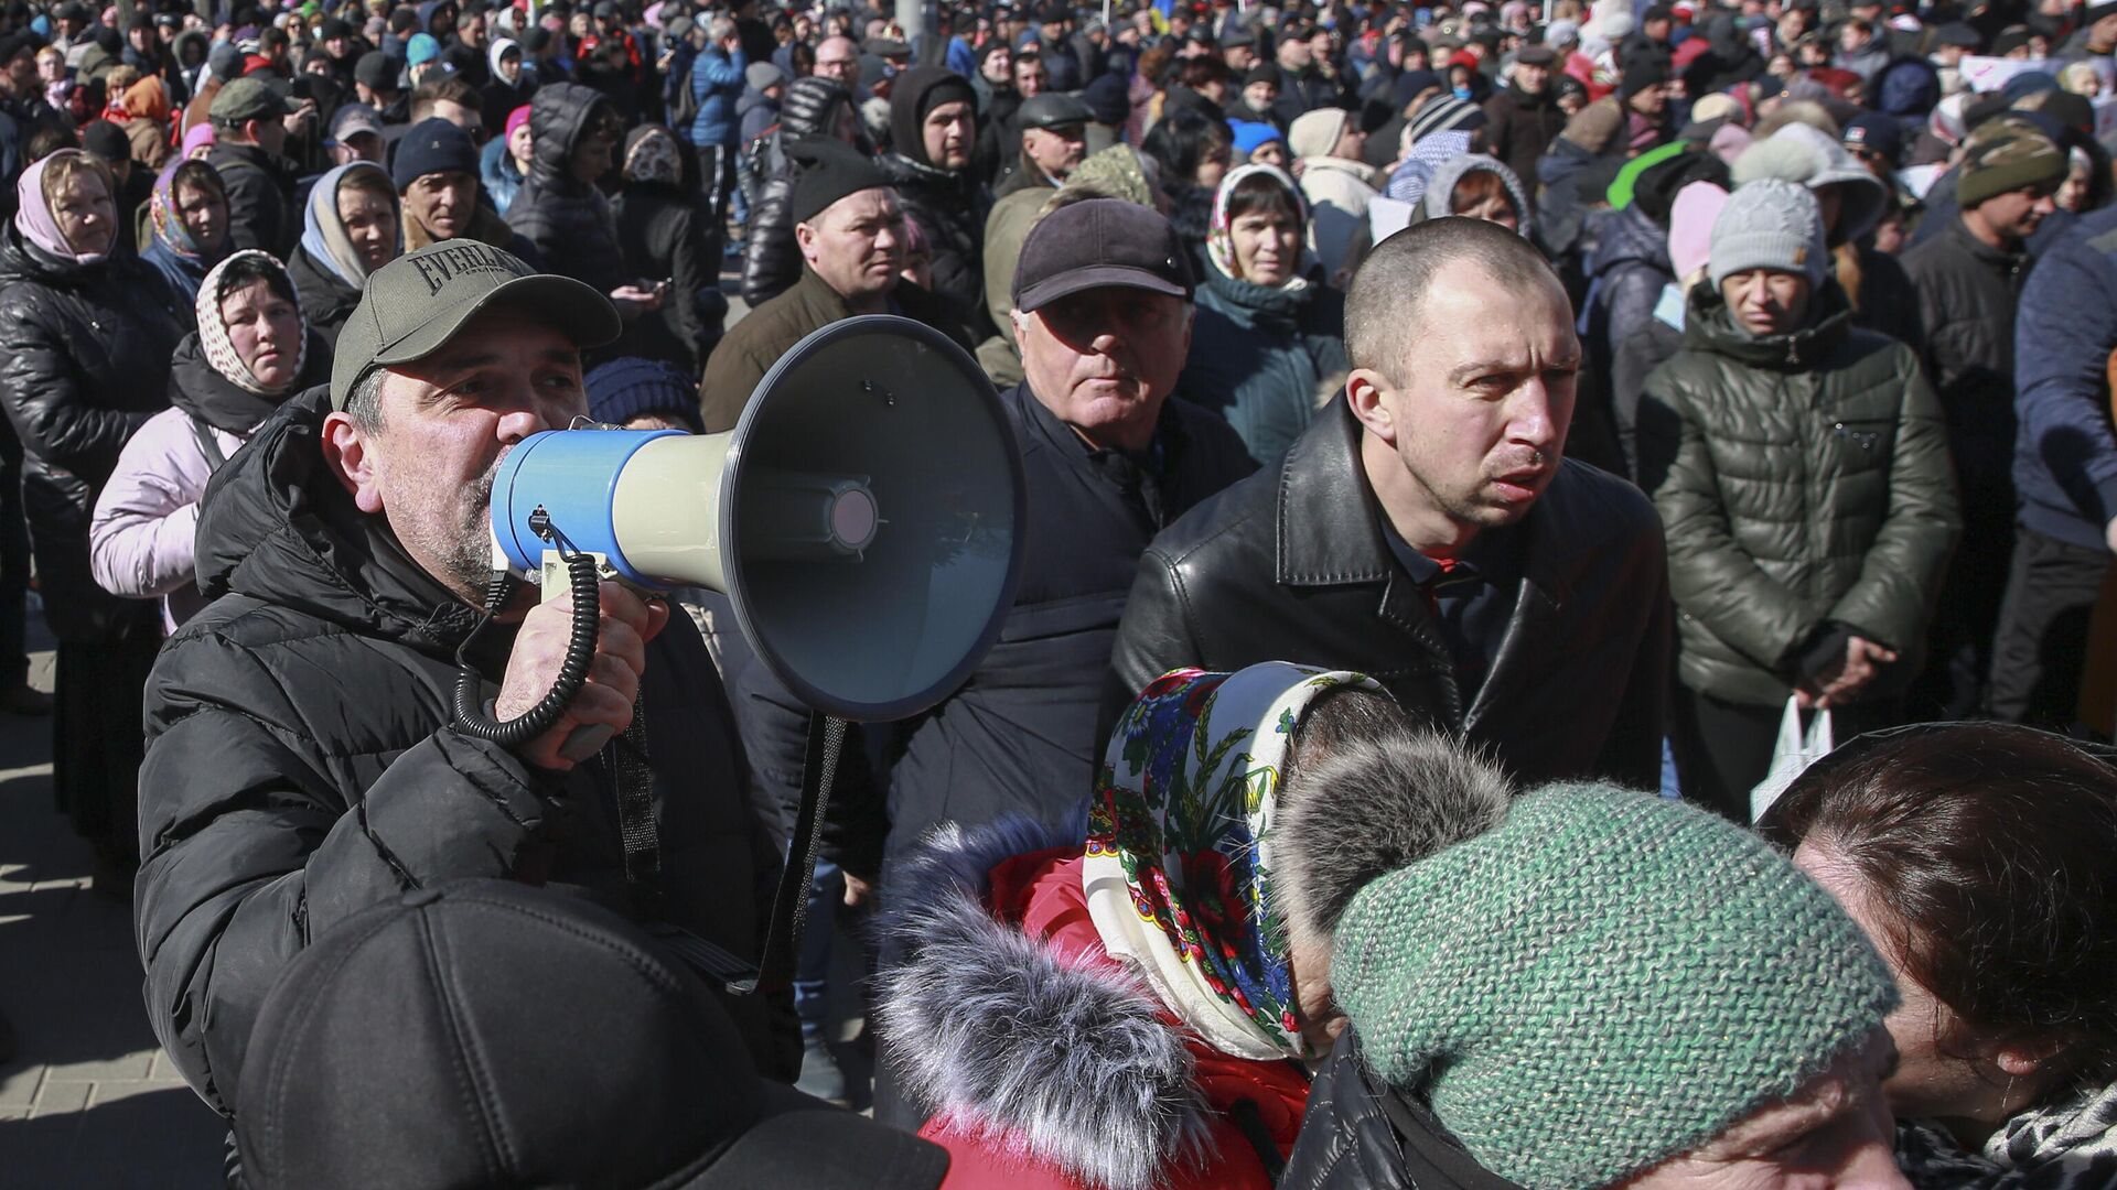
[[[347,805],[284,673],[216,635],[180,635],[146,692],[135,938],[157,1038],[227,1114],[265,993],[347,915],[430,881],[536,877],[553,803],[497,745],[436,731]],[[341,724],[343,728],[343,724]],[[555,790],[553,790],[555,792]]]

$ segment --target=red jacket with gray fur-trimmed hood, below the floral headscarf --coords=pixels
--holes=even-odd
[[[934,1112],[951,1190],[1268,1190],[1236,1114],[1277,1165],[1308,1078],[1190,1035],[1103,949],[1082,887],[1082,824],[944,828],[895,870],[902,955],[883,1042]],[[1027,1078],[1025,1078],[1027,1076]],[[1262,1139],[1262,1137],[1260,1137]]]

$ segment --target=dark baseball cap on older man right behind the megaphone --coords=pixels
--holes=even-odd
[[[1192,273],[1177,229],[1152,208],[1088,199],[1044,216],[1014,267],[1014,309],[1042,309],[1103,286],[1190,301]]]

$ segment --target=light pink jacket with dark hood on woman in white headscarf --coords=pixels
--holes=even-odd
[[[330,343],[315,330],[303,354],[301,377],[288,392],[330,383]],[[241,449],[271,409],[273,398],[235,387],[205,362],[199,332],[176,345],[169,360],[169,404],[125,443],[110,483],[95,498],[89,523],[89,563],[95,584],[129,599],[167,597],[163,623],[182,625],[205,606],[195,584],[193,540],[199,500],[214,464],[199,445],[201,423],[220,457]]]

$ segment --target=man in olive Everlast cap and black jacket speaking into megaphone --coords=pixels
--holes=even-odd
[[[517,599],[476,631],[487,502],[523,438],[586,413],[580,351],[618,330],[580,282],[485,244],[423,248],[368,277],[328,392],[286,402],[216,474],[197,536],[216,601],[146,695],[138,938],[155,1031],[222,1114],[277,974],[406,887],[578,885],[758,953],[775,845],[686,616],[603,582],[586,682],[548,731],[504,747],[451,726],[459,661],[506,720],[569,652],[565,599]],[[627,726],[561,754],[578,728]],[[652,798],[654,881],[633,879],[625,796]],[[760,1071],[792,1078],[785,1002],[726,1006]]]

